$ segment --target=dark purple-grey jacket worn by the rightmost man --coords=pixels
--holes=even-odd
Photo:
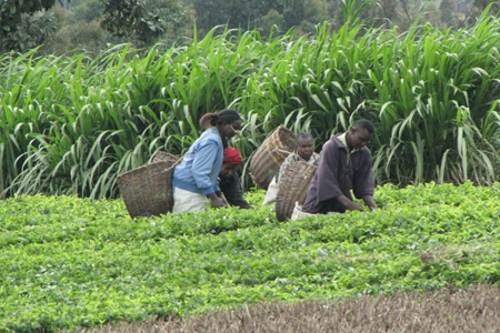
[[[333,135],[321,150],[302,211],[313,214],[343,213],[346,208],[336,198],[343,194],[352,200],[351,190],[358,199],[373,195],[371,153],[363,147],[349,155],[343,143]]]

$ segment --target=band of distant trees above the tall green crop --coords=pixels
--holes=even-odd
[[[472,0],[429,0],[429,1],[392,1],[392,0],[279,0],[279,1],[220,1],[220,0],[60,0],[62,8],[71,11],[72,19],[66,26],[54,26],[52,16],[43,14],[40,10],[51,9],[56,1],[48,0],[4,0],[0,7],[1,29],[0,50],[27,51],[49,41],[46,52],[60,54],[72,50],[73,46],[61,39],[68,30],[78,30],[74,24],[81,21],[99,20],[102,27],[114,34],[109,43],[130,42],[136,46],[151,46],[154,42],[168,44],[180,43],[190,38],[194,17],[197,17],[198,33],[204,36],[216,26],[242,28],[244,30],[259,29],[263,34],[281,34],[293,28],[297,36],[313,33],[318,24],[328,22],[339,29],[348,21],[353,24],[354,18],[367,27],[397,27],[399,31],[408,30],[416,20],[429,22],[434,27],[457,29],[472,26],[482,10],[497,14],[496,1]],[[61,8],[61,7],[60,7]],[[77,23],[78,22],[78,23]],[[62,31],[50,37],[54,29]],[[88,27],[84,27],[88,29]],[[218,32],[223,31],[219,29]],[[62,34],[62,38],[61,38]],[[106,34],[99,36],[108,38]],[[77,37],[78,38],[78,37]],[[119,41],[117,41],[119,39]],[[59,42],[58,42],[59,40]],[[86,48],[77,43],[74,48]]]

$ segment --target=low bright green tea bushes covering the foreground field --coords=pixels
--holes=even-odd
[[[121,200],[0,201],[0,327],[53,332],[256,302],[499,283],[500,185],[379,186],[372,212],[131,220]],[[478,209],[478,208],[481,209]]]

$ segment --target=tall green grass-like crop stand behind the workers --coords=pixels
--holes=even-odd
[[[216,28],[214,28],[216,29]],[[491,184],[499,174],[500,21],[470,29],[364,30],[313,37],[212,32],[183,47],[0,56],[0,195],[117,198],[117,176],[160,150],[181,155],[203,113],[237,109],[247,165],[280,124],[318,150],[357,119],[376,125],[378,184]]]

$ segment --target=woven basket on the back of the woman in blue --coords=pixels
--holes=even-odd
[[[118,188],[132,219],[172,211],[172,175],[176,164],[171,161],[157,161],[118,176]]]

